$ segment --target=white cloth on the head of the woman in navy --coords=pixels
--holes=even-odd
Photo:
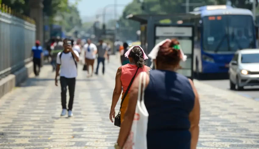
[[[160,46],[162,46],[165,42],[171,42],[171,40],[170,40],[170,39],[165,39],[165,40],[159,42],[157,45],[154,46],[154,48],[151,50],[151,52],[147,55],[149,58],[151,58],[151,61],[152,61],[153,59],[156,59],[156,58],[157,58],[157,54],[158,54],[159,48],[160,48]],[[179,45],[179,46],[180,46],[180,45]],[[180,47],[181,47],[181,46],[180,46]],[[187,59],[187,56],[184,55],[182,48],[180,48],[180,52],[181,52],[181,55],[182,55],[182,61],[185,62],[186,59]]]

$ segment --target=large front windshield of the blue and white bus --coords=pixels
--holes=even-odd
[[[255,48],[255,30],[250,15],[215,15],[203,18],[203,49],[235,52]]]

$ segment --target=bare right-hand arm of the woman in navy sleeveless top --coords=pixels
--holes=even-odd
[[[198,92],[193,85],[193,81],[189,79],[189,82],[193,88],[193,92],[195,95],[195,101],[193,110],[190,112],[189,120],[191,123],[190,126],[190,133],[191,133],[191,148],[190,149],[196,149],[198,138],[199,138],[199,122],[200,122],[200,101],[199,101],[199,95]]]

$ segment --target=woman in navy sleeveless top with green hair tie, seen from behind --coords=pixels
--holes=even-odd
[[[154,54],[155,53],[155,54]],[[155,70],[146,77],[147,149],[196,149],[199,137],[200,103],[192,80],[176,73],[184,58],[179,42],[166,39],[149,54]],[[146,73],[146,72],[144,72]],[[128,108],[121,124],[116,149],[123,147],[131,129],[140,75],[131,86]]]

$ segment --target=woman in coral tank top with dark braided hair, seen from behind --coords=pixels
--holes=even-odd
[[[140,72],[148,72],[150,68],[145,66],[145,59],[148,59],[144,50],[140,46],[131,47],[125,57],[129,58],[130,63],[118,68],[115,78],[115,88],[112,96],[112,106],[110,111],[110,120],[113,123],[112,117],[115,118],[115,107],[122,92],[122,98],[130,84],[131,79],[136,73],[136,77]],[[139,68],[139,69],[138,69]],[[123,91],[122,91],[123,87]],[[121,107],[121,122],[123,121],[124,113],[129,103],[130,90],[126,94]]]

